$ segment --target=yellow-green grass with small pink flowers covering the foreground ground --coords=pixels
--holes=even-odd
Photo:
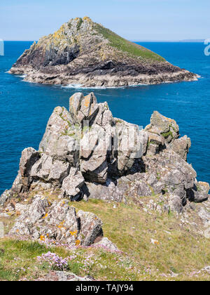
[[[210,264],[209,240],[194,232],[190,223],[183,225],[176,214],[148,213],[134,204],[120,203],[113,208],[113,203],[94,199],[71,205],[102,218],[104,236],[123,251],[116,254],[78,248],[76,258],[69,261],[69,271],[76,275],[91,275],[97,280],[209,280],[205,273],[190,275]],[[151,239],[158,244],[152,244]],[[48,273],[48,265],[34,259],[48,251],[63,258],[72,254],[38,242],[0,240],[0,280],[34,280]],[[177,276],[171,277],[171,272]]]

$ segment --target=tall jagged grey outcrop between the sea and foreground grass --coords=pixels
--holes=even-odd
[[[158,195],[166,210],[182,212],[190,202],[206,201],[209,193],[209,184],[198,182],[186,161],[190,145],[187,136],[179,138],[176,122],[159,112],[153,112],[151,124],[139,130],[114,118],[94,93],[85,97],[75,93],[69,111],[56,107],[52,112],[39,150],[29,147],[22,152],[18,176],[1,195],[0,204],[32,192],[55,191],[70,201],[137,203],[141,197]],[[39,215],[44,214],[43,201],[38,204]],[[76,218],[75,214],[74,230]]]

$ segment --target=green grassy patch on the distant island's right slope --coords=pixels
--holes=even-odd
[[[126,39],[118,36],[118,34],[112,32],[110,29],[102,27],[102,25],[94,23],[94,29],[99,34],[102,34],[102,36],[105,39],[108,39],[112,47],[117,48],[120,51],[126,52],[129,55],[139,58],[155,61],[165,61],[165,59],[162,58],[162,56],[144,48],[143,46],[139,46],[138,44],[134,44],[133,42],[127,41]]]

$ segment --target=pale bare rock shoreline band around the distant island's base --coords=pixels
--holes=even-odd
[[[79,87],[123,87],[123,86],[139,86],[141,84],[162,84],[172,83],[179,81],[197,81],[200,77],[197,74],[193,74],[186,70],[180,70],[179,72],[166,72],[162,74],[139,74],[137,76],[125,75],[123,77],[120,74],[45,74],[31,69],[30,67],[12,67],[9,71],[10,74],[25,75],[24,81],[38,84],[51,84],[51,85],[78,85]]]

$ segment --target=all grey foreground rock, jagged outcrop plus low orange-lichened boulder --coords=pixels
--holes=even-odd
[[[75,93],[69,110],[52,112],[39,149],[22,151],[18,176],[0,197],[0,213],[19,212],[10,235],[90,246],[103,237],[102,221],[76,213],[71,202],[102,199],[167,214],[193,212],[210,237],[209,184],[197,181],[187,162],[190,145],[178,124],[159,112],[141,130],[114,118],[94,93]],[[202,202],[196,211],[193,203]]]

